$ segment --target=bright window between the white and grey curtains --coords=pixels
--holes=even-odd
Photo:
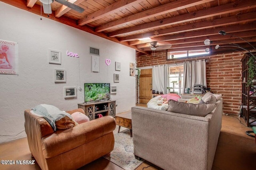
[[[170,90],[170,93],[181,94],[183,92],[182,91],[183,74],[184,74],[183,63],[177,64],[175,66],[168,66],[169,84],[167,89]]]

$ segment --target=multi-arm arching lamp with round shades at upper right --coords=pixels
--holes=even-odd
[[[226,31],[219,31],[218,32],[220,35],[226,35]],[[235,35],[232,35],[234,37],[238,37],[238,36],[235,36]],[[251,44],[249,43],[248,41],[246,41],[245,39],[241,38],[241,37],[238,37],[240,39],[242,39],[243,41],[245,41],[246,43],[248,43],[250,46],[252,46],[255,50],[256,48]],[[254,54],[252,54],[248,49],[244,48],[244,47],[241,47],[240,45],[238,44],[235,44],[235,43],[229,43],[229,42],[224,42],[224,41],[211,41],[210,39],[206,39],[204,40],[204,45],[210,45],[212,43],[224,43],[224,45],[216,45],[215,46],[215,49],[219,49],[219,48],[225,48],[225,47],[236,47],[236,48],[239,48],[239,49],[242,49],[244,51],[247,51],[248,53],[250,53],[255,59],[256,59],[256,56]],[[237,49],[232,49],[232,50],[235,50],[235,51],[239,51]],[[206,48],[205,49],[206,52],[209,52],[210,51],[210,48]],[[239,51],[239,52],[242,52],[242,51]],[[242,52],[243,53],[243,52]]]

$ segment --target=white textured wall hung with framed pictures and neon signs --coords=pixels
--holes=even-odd
[[[0,143],[26,137],[24,110],[38,104],[51,104],[62,110],[75,109],[84,102],[84,83],[109,82],[116,85],[117,113],[135,106],[135,77],[129,63],[135,63],[135,50],[129,47],[20,10],[0,2],[0,39],[18,42],[18,76],[0,74]],[[100,49],[100,72],[92,72],[89,47]],[[61,65],[48,63],[48,49],[62,52]],[[78,53],[68,57],[66,51]],[[105,60],[112,62],[109,66]],[[115,71],[115,61],[121,71]],[[54,68],[66,69],[66,83],[54,83]],[[79,76],[80,72],[80,76]],[[120,82],[114,83],[114,73]],[[82,87],[77,98],[64,99],[63,88]]]

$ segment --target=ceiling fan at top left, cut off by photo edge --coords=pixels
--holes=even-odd
[[[54,0],[39,0],[43,4],[43,9],[45,14],[52,14],[52,7],[51,4],[54,2]],[[84,12],[84,9],[80,6],[77,6],[75,4],[72,4],[71,2],[68,2],[66,0],[55,0],[56,2],[59,2],[60,4],[63,4],[64,6],[67,6],[68,8],[71,8],[72,10],[76,10],[77,12]]]

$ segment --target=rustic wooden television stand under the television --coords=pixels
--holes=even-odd
[[[84,110],[84,113],[90,120],[99,118],[102,116],[110,115],[115,117],[116,115],[116,100],[106,100],[100,102],[80,103],[78,108]]]

